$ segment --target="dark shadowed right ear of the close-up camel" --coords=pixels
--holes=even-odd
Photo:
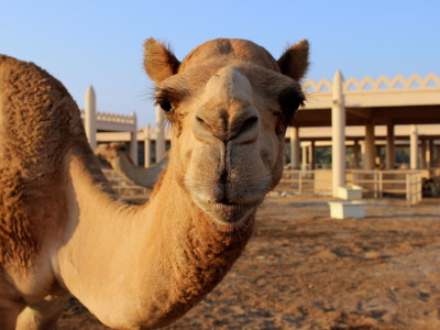
[[[309,42],[301,40],[288,47],[278,59],[282,73],[299,81],[309,67]]]

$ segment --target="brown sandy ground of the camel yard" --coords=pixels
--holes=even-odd
[[[345,220],[327,201],[270,197],[228,276],[167,329],[440,329],[440,199]],[[108,328],[72,299],[58,329]]]

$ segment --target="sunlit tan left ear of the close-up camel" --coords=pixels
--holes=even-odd
[[[158,84],[177,74],[180,62],[158,41],[150,37],[144,43],[144,67],[146,74]]]

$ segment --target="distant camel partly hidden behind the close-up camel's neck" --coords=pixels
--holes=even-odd
[[[114,142],[99,144],[95,150],[95,154],[103,157],[111,167],[129,183],[150,189],[153,188],[160,174],[168,165],[168,155],[166,154],[153,166],[138,166],[128,155],[124,145]]]

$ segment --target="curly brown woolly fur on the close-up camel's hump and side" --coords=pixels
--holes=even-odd
[[[63,85],[31,63],[0,56],[0,263],[28,264],[42,244],[35,227],[51,224],[40,204],[58,195],[67,136],[82,132]]]

